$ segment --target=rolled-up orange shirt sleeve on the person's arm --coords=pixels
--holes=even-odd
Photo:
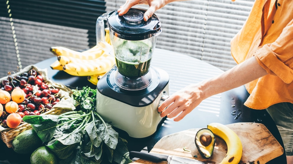
[[[267,73],[279,76],[285,83],[293,81],[293,20],[271,44],[259,47],[255,52],[259,65]]]

